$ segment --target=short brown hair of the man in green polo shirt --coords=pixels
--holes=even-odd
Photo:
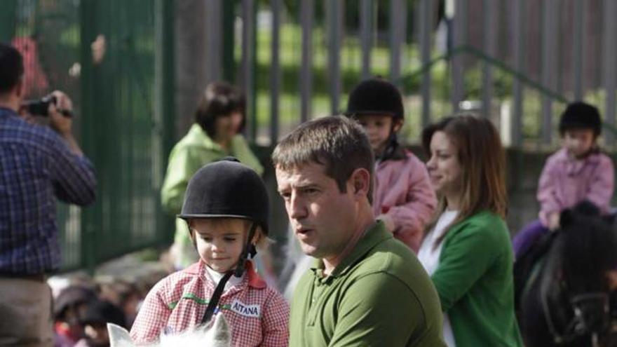
[[[365,130],[349,118],[328,116],[301,124],[276,146],[272,161],[282,170],[324,165],[341,193],[354,170],[366,169],[371,175],[367,197],[372,202],[374,155]]]

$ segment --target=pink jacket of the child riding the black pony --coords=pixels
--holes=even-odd
[[[591,154],[582,160],[568,156],[566,149],[548,157],[540,182],[538,202],[540,222],[548,226],[548,215],[561,212],[582,200],[595,203],[608,212],[613,197],[615,171],[606,154]]]

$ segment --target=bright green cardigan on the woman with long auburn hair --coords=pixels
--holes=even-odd
[[[510,233],[501,217],[480,212],[449,229],[432,278],[456,347],[523,346],[512,271]]]

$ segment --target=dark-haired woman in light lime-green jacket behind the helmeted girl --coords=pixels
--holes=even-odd
[[[240,134],[245,123],[244,109],[245,98],[238,88],[225,82],[210,83],[205,88],[195,112],[195,123],[173,147],[169,156],[161,201],[170,214],[180,212],[189,179],[205,164],[235,156],[262,175],[264,168]],[[179,218],[176,219],[171,254],[177,269],[199,259],[189,238],[187,222]]]

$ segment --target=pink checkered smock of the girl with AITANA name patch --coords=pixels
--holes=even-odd
[[[156,283],[130,329],[133,341],[152,342],[163,331],[177,333],[200,324],[215,291],[205,271],[203,261],[198,261]],[[223,293],[215,311],[220,310],[231,327],[231,346],[287,346],[287,302],[266,285],[250,261],[246,273],[240,284]]]

